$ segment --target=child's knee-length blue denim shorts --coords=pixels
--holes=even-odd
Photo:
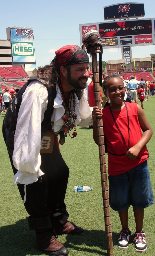
[[[154,203],[147,161],[120,175],[109,175],[109,203],[115,211],[130,205],[143,209]]]

